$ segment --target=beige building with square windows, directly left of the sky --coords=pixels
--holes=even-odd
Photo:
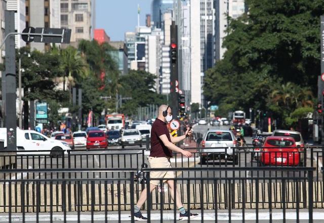
[[[61,0],[61,28],[69,28],[71,44],[80,40],[92,40],[95,29],[95,0]]]

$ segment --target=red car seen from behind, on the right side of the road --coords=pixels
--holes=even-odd
[[[301,165],[300,150],[293,137],[268,136],[259,155],[260,165]]]

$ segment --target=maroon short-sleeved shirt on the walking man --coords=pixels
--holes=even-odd
[[[159,138],[160,135],[166,135],[171,142],[167,123],[155,119],[151,129],[151,152],[150,157],[172,157],[172,151],[167,148]]]

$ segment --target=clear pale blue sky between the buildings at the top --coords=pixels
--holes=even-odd
[[[146,14],[151,14],[152,0],[96,0],[96,28],[105,29],[111,41],[124,41],[127,31],[137,26],[139,4],[140,25],[145,25]]]

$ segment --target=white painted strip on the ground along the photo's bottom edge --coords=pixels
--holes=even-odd
[[[191,210],[192,213],[195,213],[195,210]],[[147,216],[145,213],[143,213],[144,216]],[[179,216],[177,214],[177,216]],[[260,220],[269,220],[270,215],[269,212],[259,212],[259,219]],[[12,215],[12,222],[21,222],[22,216],[21,215]],[[120,215],[121,220],[130,220],[130,213],[128,214],[121,214]],[[272,219],[273,220],[282,220],[283,214],[282,212],[272,212]],[[118,220],[118,214],[107,214],[108,220]],[[163,213],[163,219],[164,220],[173,220],[174,214],[173,213]],[[228,213],[218,213],[217,214],[218,220],[229,220],[229,214]],[[242,220],[242,213],[241,212],[234,212],[231,213],[231,219],[232,220]],[[245,219],[246,220],[256,220],[256,213],[253,212],[246,212],[245,213]],[[286,212],[286,219],[288,220],[296,220],[296,212]],[[299,213],[299,219],[300,220],[308,220],[308,212],[300,212]],[[314,220],[324,220],[324,212],[313,212],[313,219]],[[53,214],[53,220],[55,221],[63,221],[64,216],[62,214]],[[77,221],[77,215],[76,214],[69,214],[66,215],[67,221]],[[89,221],[91,220],[91,214],[81,214],[80,216],[81,221]],[[94,220],[95,221],[104,221],[105,215],[104,214],[94,214]],[[160,214],[159,213],[152,213],[151,214],[151,220],[160,220]],[[195,217],[192,220],[201,220],[201,215],[199,214],[197,217]],[[215,214],[214,213],[204,213],[204,220],[215,220]],[[36,221],[36,215],[33,215],[32,213],[28,213],[25,215],[25,221]],[[39,214],[39,221],[50,221],[50,214]],[[0,216],[0,222],[9,222],[9,216]]]

